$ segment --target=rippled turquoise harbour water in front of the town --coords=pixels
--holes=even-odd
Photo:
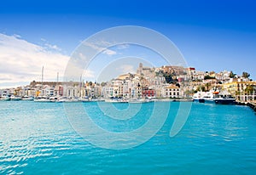
[[[0,174],[255,174],[253,110],[193,104],[181,132],[170,138],[179,103],[170,104],[164,126],[148,142],[127,150],[108,150],[90,144],[73,130],[64,104],[0,102]],[[65,105],[78,111],[76,104]],[[154,103],[143,104],[134,118],[123,121],[106,117],[97,103],[83,105],[97,125],[129,132],[148,121]],[[114,107],[125,110],[127,105]]]

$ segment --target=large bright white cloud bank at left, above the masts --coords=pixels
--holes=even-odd
[[[51,48],[58,50],[55,45]],[[19,36],[0,34],[0,87],[4,83],[40,81],[44,65],[44,80],[55,81],[57,72],[64,75],[69,57],[26,42]]]

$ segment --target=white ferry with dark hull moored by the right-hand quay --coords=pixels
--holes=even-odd
[[[229,93],[220,93],[219,91],[197,92],[192,99],[199,103],[236,104],[236,99]]]

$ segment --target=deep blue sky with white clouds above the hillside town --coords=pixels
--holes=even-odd
[[[238,75],[247,71],[256,80],[253,0],[9,0],[1,2],[0,8],[0,88],[40,81],[43,65],[44,80],[55,81],[57,72],[64,74],[67,61],[84,39],[119,25],[160,32],[177,46],[187,65],[198,71],[227,70]],[[134,57],[144,59],[143,49],[128,48],[126,52],[132,50]],[[102,55],[114,52],[109,49]],[[134,65],[120,67],[124,69],[116,69],[117,73],[136,69]],[[96,79],[95,74],[89,70],[84,79]]]

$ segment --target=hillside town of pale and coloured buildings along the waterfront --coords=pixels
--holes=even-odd
[[[109,82],[36,82],[25,87],[0,89],[0,100],[32,99],[183,99],[198,91],[218,89],[230,93],[237,101],[256,100],[256,82],[247,72],[197,71],[195,68],[163,65],[138,65],[136,73],[126,73]],[[44,97],[44,98],[43,98]]]

